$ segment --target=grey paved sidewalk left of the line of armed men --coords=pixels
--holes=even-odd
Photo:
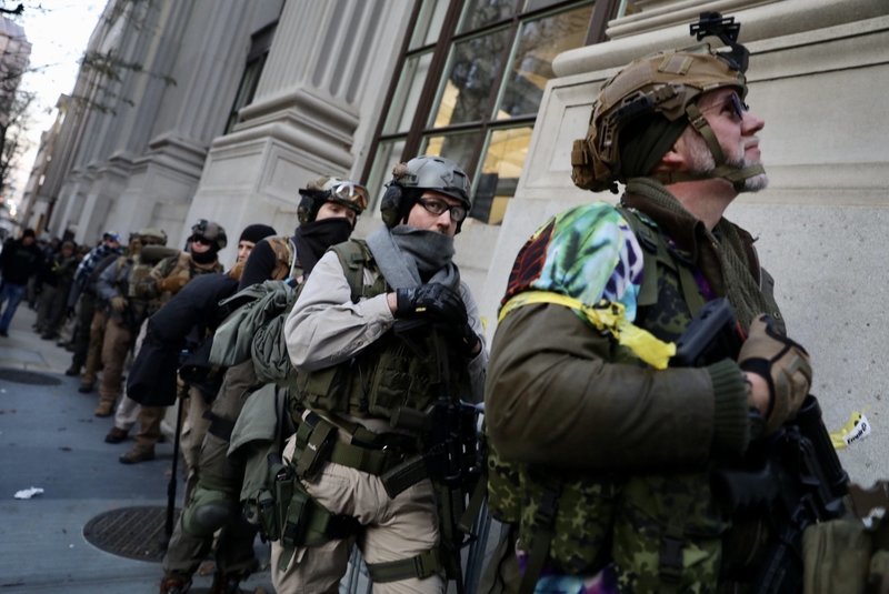
[[[33,321],[22,303],[9,338],[0,338],[0,592],[156,593],[159,563],[97,548],[83,527],[122,507],[166,507],[172,445],[160,444],[151,462],[120,464],[132,442],[104,443],[111,419],[93,416],[96,392],[77,391],[78,379],[64,375],[71,353],[41,340]],[[13,499],[31,486],[43,493]],[[180,480],[180,506],[182,489]],[[257,553],[266,558],[268,551],[258,543]],[[196,576],[191,592],[210,581]],[[270,582],[266,567],[242,591],[273,592]]]

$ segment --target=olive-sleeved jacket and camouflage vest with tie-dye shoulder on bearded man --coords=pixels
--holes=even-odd
[[[681,208],[662,210],[650,195],[625,204],[636,210],[589,204],[548,221],[519,252],[503,302],[527,291],[589,306],[605,299],[669,341],[726,294],[715,252],[732,250],[777,312],[749,234],[732,226],[740,242],[711,242]],[[655,245],[637,238],[646,228]],[[536,535],[552,535],[545,580],[607,566],[621,591],[663,591],[667,580],[680,591],[716,590],[729,521],[709,471],[749,441],[737,363],[655,371],[571,309],[528,304],[497,330],[485,397],[491,510],[518,524],[520,555]],[[543,526],[547,493],[557,503]]]

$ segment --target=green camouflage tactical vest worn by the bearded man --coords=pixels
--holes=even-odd
[[[635,323],[673,341],[705,304],[691,259],[670,245],[651,219],[619,210],[643,250]],[[763,283],[775,305],[770,289]],[[622,348],[616,361],[638,362]],[[593,575],[613,562],[621,592],[717,587],[721,542],[730,524],[713,502],[709,470],[556,473],[505,461],[489,443],[488,497],[496,519],[519,526],[518,546],[529,554],[526,573],[533,567],[539,575],[547,562],[557,572]]]

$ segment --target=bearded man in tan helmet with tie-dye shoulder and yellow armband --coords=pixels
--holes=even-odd
[[[735,521],[709,477],[793,420],[811,368],[751,235],[723,218],[767,183],[735,34],[603,84],[572,178],[625,184],[620,205],[550,219],[516,259],[485,391],[509,591],[748,591],[763,567],[762,517]],[[665,343],[717,298],[740,352],[667,368]]]

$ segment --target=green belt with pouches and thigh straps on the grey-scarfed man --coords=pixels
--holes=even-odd
[[[349,443],[338,439],[340,432],[349,436]],[[307,412],[297,427],[291,463],[270,454],[267,489],[257,499],[257,516],[263,536],[280,540],[283,547],[279,568],[287,568],[297,547],[349,538],[362,528],[356,517],[331,513],[318,503],[301,480],[313,481],[327,462],[334,462],[380,476],[389,496],[394,497],[428,477],[422,456],[414,452],[416,441],[409,436],[376,434],[357,423],[334,425]],[[368,564],[370,577],[377,583],[410,577],[424,580],[441,573],[442,568],[437,548],[410,558]]]

